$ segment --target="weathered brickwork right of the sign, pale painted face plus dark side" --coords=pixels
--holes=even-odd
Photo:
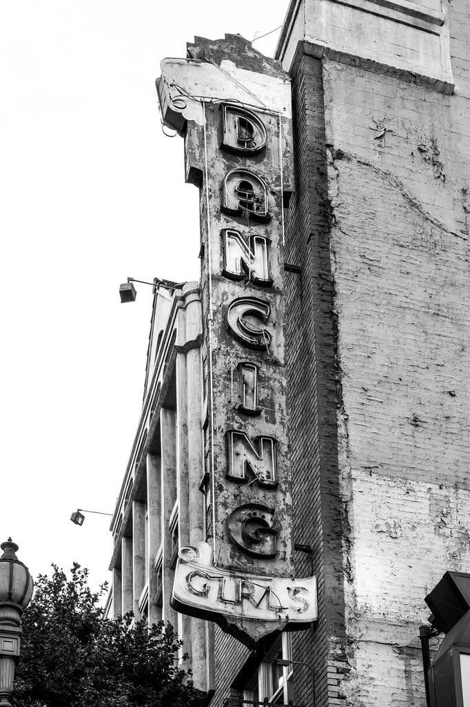
[[[293,83],[294,539],[319,600],[293,649],[316,707],[423,707],[424,597],[470,571],[470,7],[443,5],[455,95],[306,55]],[[217,707],[245,658],[217,632]]]

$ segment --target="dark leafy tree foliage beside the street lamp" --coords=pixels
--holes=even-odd
[[[88,571],[77,563],[70,579],[52,567],[52,578],[37,579],[23,614],[15,707],[198,705],[188,673],[178,666],[182,643],[171,624],[132,626],[132,614],[104,619],[106,585],[92,592]]]

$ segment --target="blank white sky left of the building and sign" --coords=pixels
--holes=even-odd
[[[142,404],[152,288],[198,279],[197,190],[162,134],[160,59],[252,40],[288,0],[0,0],[0,542],[33,575],[109,579],[109,518]],[[269,56],[279,31],[254,42]]]

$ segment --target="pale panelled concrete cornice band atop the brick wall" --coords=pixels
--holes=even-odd
[[[307,54],[452,93],[450,30],[438,0],[291,0],[276,49],[295,72]]]

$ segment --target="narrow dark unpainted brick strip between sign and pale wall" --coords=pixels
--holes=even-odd
[[[339,501],[335,380],[335,318],[332,317],[330,206],[321,63],[303,57],[292,87],[295,192],[287,212],[287,262],[301,276],[287,280],[289,425],[293,472],[294,537],[313,556],[296,554],[296,575],[313,570],[318,580],[315,631],[294,635],[294,660],[315,673],[315,705],[337,701],[337,667],[344,667],[342,513]],[[338,665],[337,665],[338,664]],[[296,703],[313,705],[312,674],[296,666]],[[335,702],[333,702],[335,703]]]

